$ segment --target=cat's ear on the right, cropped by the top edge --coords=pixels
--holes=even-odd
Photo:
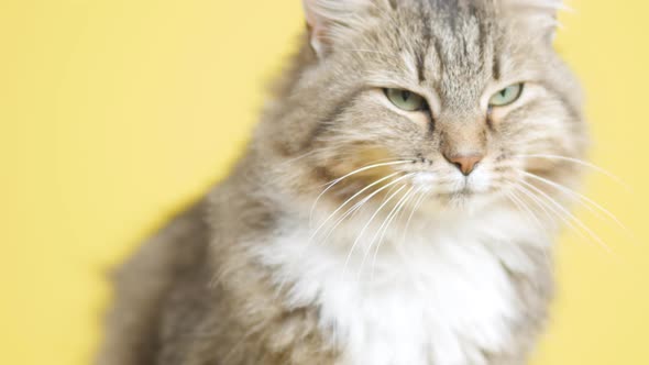
[[[569,10],[563,0],[501,0],[502,10],[515,23],[551,42],[554,38],[561,10]]]

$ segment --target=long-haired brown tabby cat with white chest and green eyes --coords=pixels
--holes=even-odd
[[[587,142],[561,3],[304,4],[245,156],[119,272],[99,364],[525,364]]]

